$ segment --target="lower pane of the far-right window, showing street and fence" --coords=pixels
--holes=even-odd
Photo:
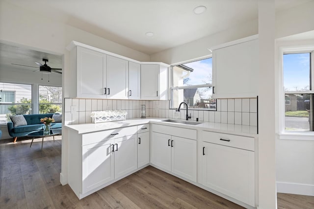
[[[286,94],[285,101],[285,130],[313,131],[313,94]]]

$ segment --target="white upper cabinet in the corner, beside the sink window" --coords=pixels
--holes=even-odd
[[[168,99],[168,67],[164,64],[141,64],[141,99]]]

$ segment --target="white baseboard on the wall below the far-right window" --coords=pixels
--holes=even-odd
[[[277,192],[314,196],[314,185],[303,183],[277,182]]]

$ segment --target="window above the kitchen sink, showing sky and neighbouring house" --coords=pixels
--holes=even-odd
[[[211,58],[172,67],[172,108],[186,102],[188,108],[216,110],[216,100],[212,98],[211,67]]]

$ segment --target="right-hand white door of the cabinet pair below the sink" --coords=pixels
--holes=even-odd
[[[171,148],[172,172],[196,182],[196,140],[172,136]]]

